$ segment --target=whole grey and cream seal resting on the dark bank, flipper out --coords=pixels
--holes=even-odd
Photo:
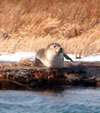
[[[58,43],[51,43],[46,48],[41,48],[36,52],[35,64],[37,66],[46,66],[47,68],[64,67],[64,57],[73,62],[73,60],[63,51]]]

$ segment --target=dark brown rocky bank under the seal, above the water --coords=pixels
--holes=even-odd
[[[63,89],[67,86],[100,87],[100,63],[65,62],[62,69],[0,63],[0,89]]]

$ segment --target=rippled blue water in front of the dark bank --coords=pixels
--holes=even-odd
[[[100,89],[0,91],[0,113],[100,113]]]

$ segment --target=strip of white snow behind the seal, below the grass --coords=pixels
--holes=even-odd
[[[100,62],[100,53],[91,54],[88,56],[82,56],[81,59],[76,59],[76,56],[74,54],[68,54],[68,56],[73,61]],[[34,58],[35,58],[35,53],[33,52],[0,53],[1,62],[19,62],[21,59],[34,60]]]

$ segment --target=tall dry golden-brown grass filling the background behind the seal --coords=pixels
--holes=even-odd
[[[100,52],[100,0],[0,0],[0,51],[59,42],[68,53]]]

